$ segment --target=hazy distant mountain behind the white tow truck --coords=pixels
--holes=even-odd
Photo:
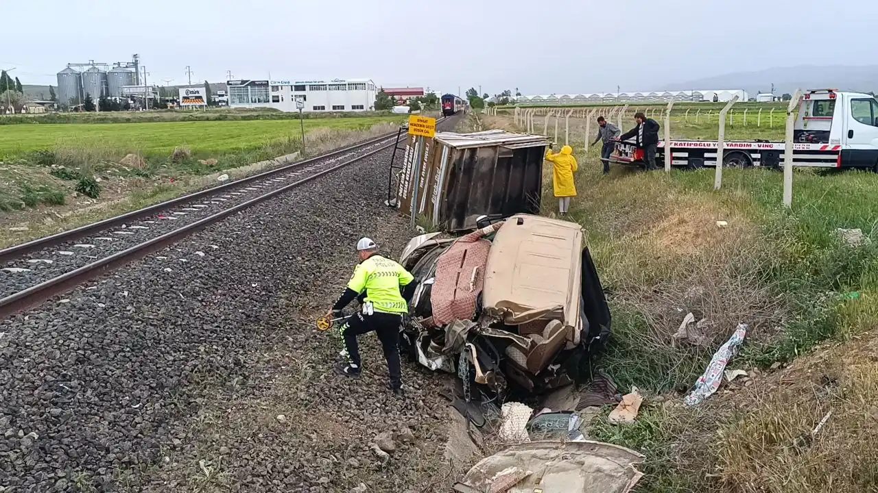
[[[774,83],[774,94],[792,94],[801,89],[840,89],[878,92],[878,65],[849,67],[843,65],[802,65],[767,68],[757,72],[736,72],[694,81],[666,85],[666,90],[744,89],[751,97],[768,92]]]

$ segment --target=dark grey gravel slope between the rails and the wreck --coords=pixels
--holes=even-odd
[[[381,202],[390,152],[320,178],[0,323],[5,491],[421,491],[443,479],[441,377],[385,390],[313,330],[360,236],[411,236]],[[399,158],[398,158],[399,159]],[[284,415],[278,418],[278,415]],[[412,436],[383,464],[378,432]]]

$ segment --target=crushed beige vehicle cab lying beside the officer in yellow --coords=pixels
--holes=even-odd
[[[467,400],[586,379],[611,318],[584,242],[579,225],[529,214],[410,240],[399,259],[417,283],[407,353],[460,376]]]

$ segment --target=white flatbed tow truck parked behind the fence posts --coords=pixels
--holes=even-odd
[[[659,132],[660,135],[661,132]],[[793,166],[871,169],[878,172],[878,101],[874,96],[837,89],[813,89],[802,96],[793,132]],[[675,167],[716,166],[716,140],[671,140]],[[656,163],[664,165],[666,142],[659,141]],[[726,168],[781,168],[784,143],[768,140],[723,143]],[[633,139],[617,142],[611,162],[644,166],[644,150]]]

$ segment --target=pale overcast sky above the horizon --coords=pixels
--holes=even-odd
[[[0,68],[55,83],[127,61],[148,82],[371,78],[495,94],[659,90],[803,64],[875,62],[874,0],[43,0],[4,2]],[[871,13],[867,13],[871,11]],[[51,15],[46,15],[51,13]],[[21,22],[10,19],[21,19]],[[10,32],[11,30],[11,32]]]

